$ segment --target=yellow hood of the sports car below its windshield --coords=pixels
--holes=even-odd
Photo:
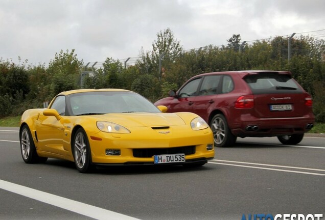
[[[173,113],[110,113],[97,118],[125,127],[185,125],[185,122]]]

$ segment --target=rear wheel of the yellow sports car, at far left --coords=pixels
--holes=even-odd
[[[26,163],[41,163],[47,161],[47,157],[37,155],[31,131],[27,125],[22,126],[20,136],[20,153]]]

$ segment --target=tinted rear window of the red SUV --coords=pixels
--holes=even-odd
[[[288,74],[262,72],[244,77],[253,94],[301,93],[300,87]]]

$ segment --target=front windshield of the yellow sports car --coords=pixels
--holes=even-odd
[[[159,109],[143,96],[128,91],[96,91],[68,96],[73,115],[107,113],[159,113]]]

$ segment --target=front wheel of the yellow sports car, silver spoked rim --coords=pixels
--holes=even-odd
[[[76,168],[80,173],[91,171],[91,152],[87,134],[84,129],[79,128],[74,137],[73,155]]]

